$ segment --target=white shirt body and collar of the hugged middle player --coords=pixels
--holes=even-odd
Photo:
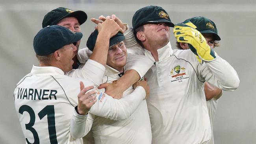
[[[117,70],[110,67],[106,70],[108,83],[120,78]],[[123,97],[127,97],[133,90],[132,86],[129,87]],[[126,120],[114,121],[95,117],[92,131],[96,144],[151,144],[152,134],[146,100],[143,100]]]

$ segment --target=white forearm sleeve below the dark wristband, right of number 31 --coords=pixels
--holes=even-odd
[[[91,130],[95,115],[88,113],[83,116],[76,113],[74,110],[73,116],[70,121],[70,135],[74,138],[82,138]]]

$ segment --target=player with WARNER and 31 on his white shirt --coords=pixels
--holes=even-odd
[[[108,39],[104,43],[107,46],[109,38],[104,33],[117,33],[120,30],[113,20],[108,21],[110,23],[106,22],[99,28],[101,30],[99,35],[105,37],[98,37],[102,42]],[[105,24],[108,28],[113,27],[106,29]],[[112,37],[111,34],[109,36]],[[89,79],[65,76],[64,73],[72,69],[72,58],[76,51],[73,43],[81,38],[82,33],[74,33],[56,25],[43,28],[35,36],[33,47],[39,66],[33,66],[30,74],[19,81],[14,91],[15,109],[27,144],[32,142],[82,144],[82,138],[74,139],[69,132],[73,111],[85,115],[90,110],[90,113],[105,118],[124,120],[144,100],[146,92],[141,86],[137,86],[127,98],[115,100],[100,91],[85,94],[87,90],[93,88],[93,86],[86,88],[83,86],[83,83],[86,86],[93,85]],[[98,45],[100,44],[99,42]],[[88,61],[83,71],[91,76],[91,79],[97,79],[98,76],[103,76],[104,70],[93,63],[93,60]],[[93,78],[94,76],[96,78]],[[96,101],[100,97],[102,100]],[[79,103],[83,103],[83,111]]]

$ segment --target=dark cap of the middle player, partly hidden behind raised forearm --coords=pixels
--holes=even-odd
[[[91,33],[91,35],[89,36],[89,38],[86,42],[87,48],[89,48],[89,50],[91,50],[92,52],[93,52],[93,49],[94,49],[95,44],[96,44],[97,36],[98,36],[98,30],[95,30]],[[118,32],[116,35],[114,35],[113,37],[111,37],[109,39],[109,48],[111,46],[114,46],[118,42],[123,41],[123,40],[124,40],[124,34],[121,33],[121,32]]]

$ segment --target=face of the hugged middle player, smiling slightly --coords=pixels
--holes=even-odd
[[[126,64],[127,51],[124,42],[119,42],[111,46],[108,50],[107,65],[123,72]]]

